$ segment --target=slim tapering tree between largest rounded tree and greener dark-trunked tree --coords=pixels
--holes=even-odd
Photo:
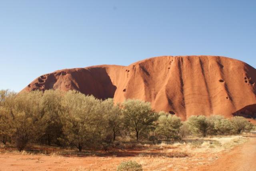
[[[116,135],[120,131],[122,124],[122,111],[118,105],[114,104],[112,98],[108,98],[102,102],[102,108],[106,116],[108,127],[113,132],[113,141],[116,140]]]

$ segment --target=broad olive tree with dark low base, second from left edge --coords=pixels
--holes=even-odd
[[[14,139],[19,151],[24,149],[30,140],[37,140],[43,133],[41,97],[42,92],[32,91],[20,93],[14,98],[11,113]]]

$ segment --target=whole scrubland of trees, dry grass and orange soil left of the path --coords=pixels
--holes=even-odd
[[[80,92],[0,91],[0,170],[192,170],[246,142],[245,118],[155,112]]]

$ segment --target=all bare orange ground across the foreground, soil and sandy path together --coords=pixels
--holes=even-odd
[[[117,155],[90,157],[65,157],[55,155],[22,155],[0,153],[0,171],[114,171],[120,162],[135,160],[142,164],[144,171],[254,171],[256,168],[256,138],[235,147],[231,151],[219,153],[195,153],[186,157],[168,158],[164,156],[142,157],[139,153],[158,153],[142,149],[124,150]]]

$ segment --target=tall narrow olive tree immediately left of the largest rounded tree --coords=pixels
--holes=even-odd
[[[62,135],[62,122],[60,114],[62,112],[62,96],[60,90],[46,90],[42,96],[42,122],[45,124],[42,140],[46,140],[48,145],[52,142],[59,144],[58,138]]]

